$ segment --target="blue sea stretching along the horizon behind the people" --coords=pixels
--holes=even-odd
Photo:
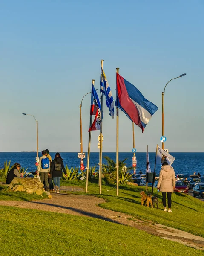
[[[41,152],[40,152],[41,154]],[[39,154],[39,156],[40,156]],[[64,165],[68,166],[69,168],[78,167],[80,166],[80,159],[78,158],[78,153],[76,152],[67,152],[67,153],[60,153],[61,157],[63,158]],[[55,157],[55,153],[50,153],[52,159]],[[146,173],[146,153],[136,153],[137,157],[137,168],[136,173],[139,173],[140,171],[144,174]],[[171,155],[175,157],[175,161],[172,164],[172,167],[175,170],[175,174],[193,174],[193,172],[196,172],[196,174],[199,172],[201,174],[201,177],[204,177],[204,153],[172,153]],[[116,161],[116,153],[114,152],[103,152],[103,157],[108,156],[112,158],[114,161]],[[4,162],[7,160],[11,160],[11,165],[14,163],[20,163],[20,165],[24,168],[28,168],[29,172],[33,172],[36,170],[35,166],[35,157],[36,152],[1,152],[0,153],[0,168],[3,168]],[[87,153],[86,153],[87,157]],[[132,152],[120,152],[119,153],[119,160],[126,159],[125,163],[126,166],[132,166]],[[84,159],[84,166],[86,167],[86,160]],[[149,162],[151,171],[154,171],[157,175],[159,175],[161,166],[156,165],[155,166],[155,153],[149,153]],[[97,166],[99,163],[99,153],[91,153],[90,154],[90,166]],[[106,160],[103,158],[103,163],[107,163]],[[133,169],[132,171],[133,172]]]

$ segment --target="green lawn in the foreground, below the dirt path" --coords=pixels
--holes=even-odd
[[[133,227],[56,212],[0,207],[4,256],[201,256]]]

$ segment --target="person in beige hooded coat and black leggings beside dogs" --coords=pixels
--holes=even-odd
[[[172,212],[171,209],[171,195],[175,189],[175,172],[173,167],[164,162],[159,174],[159,182],[157,188],[162,193],[162,203],[164,206],[164,212],[167,212],[166,197],[168,199],[168,212]]]

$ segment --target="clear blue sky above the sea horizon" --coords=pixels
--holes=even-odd
[[[99,89],[100,60],[115,99],[115,68],[158,106],[138,152],[155,151],[161,137],[164,96],[165,148],[204,151],[203,0],[9,0],[0,6],[0,151],[33,150],[34,115],[39,150],[80,151],[79,104]],[[90,97],[83,100],[83,151],[87,151]],[[103,151],[115,151],[116,118],[104,108]],[[98,131],[92,151],[98,151]],[[132,123],[119,117],[119,151],[132,150]]]

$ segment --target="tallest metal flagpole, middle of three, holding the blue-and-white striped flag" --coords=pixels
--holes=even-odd
[[[101,60],[101,67],[103,69],[103,61]],[[103,138],[103,92],[101,90],[101,128],[100,128],[100,163],[99,163],[99,194],[101,195],[101,190],[102,190],[102,138]]]

